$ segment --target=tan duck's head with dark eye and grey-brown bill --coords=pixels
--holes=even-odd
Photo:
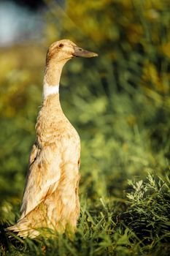
[[[97,53],[84,50],[69,39],[62,39],[50,45],[50,48],[47,50],[47,63],[50,60],[66,63],[66,61],[74,57],[91,58],[96,56],[98,56]]]

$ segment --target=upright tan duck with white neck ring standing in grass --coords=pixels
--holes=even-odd
[[[73,233],[80,216],[80,136],[61,108],[59,85],[63,66],[76,57],[98,56],[69,39],[47,50],[43,101],[36,120],[26,185],[18,222],[8,227],[21,238],[35,238],[41,228]]]

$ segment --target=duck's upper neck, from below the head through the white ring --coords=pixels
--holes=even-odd
[[[45,67],[45,78],[43,86],[43,98],[47,99],[50,95],[59,94],[59,83],[63,63],[54,63],[50,61]]]

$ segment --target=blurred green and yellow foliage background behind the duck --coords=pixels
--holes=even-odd
[[[18,217],[42,104],[47,48],[71,39],[61,105],[80,134],[80,195],[124,197],[129,178],[165,176],[170,157],[170,1],[0,2],[0,216]]]

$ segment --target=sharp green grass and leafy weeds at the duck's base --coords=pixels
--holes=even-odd
[[[168,255],[170,181],[149,174],[129,181],[124,200],[81,200],[77,232],[42,230],[36,240],[4,239],[1,255]],[[6,252],[6,254],[5,254]]]

